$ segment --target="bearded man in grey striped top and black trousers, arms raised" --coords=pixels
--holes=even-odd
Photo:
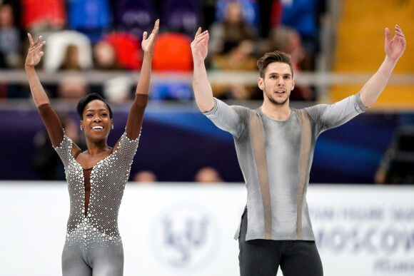
[[[373,106],[403,55],[403,31],[395,26],[390,39],[385,29],[385,59],[359,93],[303,109],[289,106],[295,78],[290,56],[281,51],[258,60],[260,108],[228,106],[213,98],[204,64],[207,46],[208,31],[199,28],[191,43],[193,89],[200,111],[233,136],[246,183],[246,210],[235,236],[240,274],[276,275],[280,265],[285,276],[323,275],[306,203],[316,138]]]

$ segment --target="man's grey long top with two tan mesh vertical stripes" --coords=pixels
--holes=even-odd
[[[367,109],[359,93],[332,105],[291,108],[286,121],[269,118],[261,108],[214,101],[204,114],[233,136],[246,183],[246,240],[315,240],[306,190],[316,138]]]

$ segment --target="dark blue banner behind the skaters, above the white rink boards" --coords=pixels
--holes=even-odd
[[[115,129],[109,135],[108,145],[113,146],[123,133],[128,111],[129,107],[114,108]],[[0,116],[0,162],[4,164],[0,180],[40,180],[41,174],[34,167],[34,141],[36,133],[46,130],[39,114],[34,109],[8,110],[0,111]],[[70,112],[68,116],[79,129],[76,113]],[[315,147],[310,182],[373,183],[399,118],[398,113],[364,113],[322,133]],[[216,128],[193,106],[148,106],[131,180],[139,171],[150,170],[159,181],[191,182],[203,167],[216,168],[226,182],[243,182],[229,133]],[[63,172],[63,166],[56,170]]]

